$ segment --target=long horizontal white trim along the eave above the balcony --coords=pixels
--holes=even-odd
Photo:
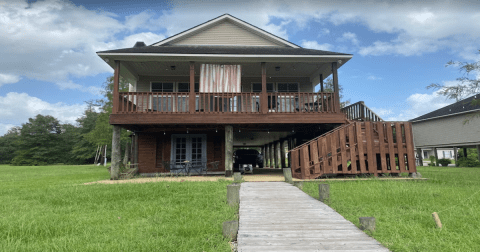
[[[177,56],[241,58],[348,58],[353,55],[272,55],[272,54],[178,54],[178,53],[97,53],[99,56]]]

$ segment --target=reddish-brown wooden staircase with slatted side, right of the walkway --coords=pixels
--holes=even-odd
[[[378,118],[370,115],[363,120]],[[416,172],[410,122],[350,122],[290,152],[292,175],[298,179],[324,174]]]

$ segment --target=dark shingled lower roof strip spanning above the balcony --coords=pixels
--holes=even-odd
[[[117,50],[97,52],[99,55],[116,54],[174,54],[174,55],[295,55],[295,56],[352,56],[352,54],[336,53],[329,51],[291,48],[291,47],[272,47],[272,46],[145,46],[132,47]],[[349,57],[349,58],[350,58]]]

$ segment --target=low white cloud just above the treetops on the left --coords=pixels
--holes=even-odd
[[[38,114],[51,115],[62,123],[74,124],[86,109],[86,104],[67,105],[62,102],[48,103],[26,93],[10,92],[0,96],[0,136],[13,126],[20,126],[28,118]]]

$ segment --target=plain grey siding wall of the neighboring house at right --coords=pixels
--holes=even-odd
[[[467,118],[467,114],[461,114],[412,123],[415,146],[480,143],[480,118],[471,118],[469,123],[464,124]]]

